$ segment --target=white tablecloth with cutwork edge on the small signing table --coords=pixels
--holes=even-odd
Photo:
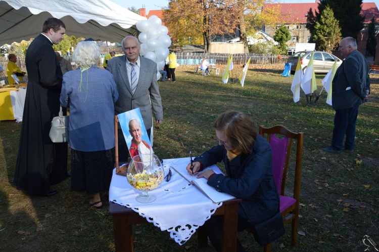
[[[165,175],[169,166],[186,166],[188,162],[189,158],[164,160]],[[182,245],[222,203],[213,203],[172,168],[171,172],[172,177],[169,182],[163,181],[159,188],[149,192],[157,196],[154,202],[139,203],[135,200],[138,193],[132,189],[126,177],[116,175],[116,169],[114,169],[109,188],[109,200],[130,207],[162,231],[167,230],[171,238]]]

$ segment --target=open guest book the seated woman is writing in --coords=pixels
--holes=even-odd
[[[182,161],[183,160],[183,161]],[[234,196],[231,196],[230,194],[219,192],[214,187],[207,184],[206,178],[197,178],[197,175],[191,175],[187,172],[185,169],[187,164],[190,161],[189,158],[181,158],[181,162],[175,162],[175,164],[172,164],[172,168],[180,174],[185,180],[187,180],[189,183],[196,186],[201,192],[203,192],[206,196],[208,196],[213,202],[219,203],[230,199],[235,199]],[[213,164],[209,167],[206,167],[203,171],[206,170],[213,170],[216,174],[223,174],[219,167],[216,164]],[[202,172],[203,172],[202,171]]]

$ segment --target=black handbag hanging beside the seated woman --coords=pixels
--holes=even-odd
[[[241,205],[245,211],[244,205]],[[248,216],[247,213],[246,216]],[[261,246],[271,243],[285,233],[283,217],[281,216],[279,209],[272,217],[260,223],[251,223],[250,220],[248,220],[248,222],[253,230],[254,239]]]

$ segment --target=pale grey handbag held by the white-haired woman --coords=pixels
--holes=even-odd
[[[53,143],[65,143],[69,139],[68,131],[69,116],[63,115],[62,107],[59,110],[59,116],[52,120],[52,128],[50,129],[49,137]]]

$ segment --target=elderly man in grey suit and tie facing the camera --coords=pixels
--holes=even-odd
[[[139,57],[140,45],[134,36],[122,39],[122,50],[125,56],[118,56],[108,61],[107,70],[116,82],[119,98],[115,103],[115,114],[120,114],[139,107],[149,139],[155,122],[163,120],[163,109],[157,82],[157,64],[147,58]],[[128,147],[118,128],[119,160],[127,161]]]

